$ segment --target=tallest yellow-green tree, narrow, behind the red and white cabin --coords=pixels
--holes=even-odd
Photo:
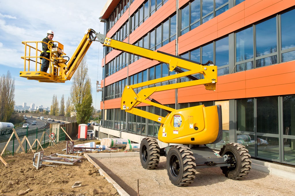
[[[72,111],[76,113],[78,124],[87,123],[94,110],[91,92],[91,81],[88,76],[86,57],[84,57],[73,75],[70,91]]]

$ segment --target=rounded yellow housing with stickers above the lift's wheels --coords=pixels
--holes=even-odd
[[[158,139],[174,144],[215,144],[222,137],[221,106],[194,106],[175,110],[160,126]]]

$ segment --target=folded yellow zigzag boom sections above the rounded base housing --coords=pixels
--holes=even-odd
[[[158,78],[155,80],[150,80],[134,85],[129,85],[124,88],[124,91],[122,93],[122,99],[121,99],[121,109],[125,110],[129,113],[133,113],[138,116],[143,116],[145,118],[149,118],[151,120],[165,123],[166,118],[162,117],[159,118],[158,115],[155,115],[153,113],[148,113],[146,111],[139,110],[137,108],[134,108],[140,103],[147,103],[152,106],[156,106],[168,111],[174,111],[174,109],[163,106],[159,103],[155,103],[152,101],[146,100],[155,92],[164,91],[164,90],[171,90],[176,88],[184,88],[184,87],[190,87],[195,85],[205,85],[205,88],[207,90],[215,90],[216,89],[216,83],[217,83],[217,66],[210,65],[210,66],[203,66],[200,65],[198,62],[190,61],[183,59],[181,57],[177,57],[175,55],[170,55],[164,52],[155,52],[153,50],[148,50],[146,48],[142,48],[139,46],[131,45],[125,42],[120,42],[111,38],[106,37],[103,34],[95,33],[96,37],[98,38],[98,41],[101,42],[104,46],[112,47],[114,49],[128,52],[140,57],[144,57],[151,60],[156,60],[162,63],[166,63],[169,66],[169,70],[173,71],[174,69],[178,69],[177,67],[181,67],[184,69],[187,69],[189,71],[166,76],[163,78]],[[145,87],[149,86],[155,83],[160,83],[164,81],[173,80],[176,78],[186,77],[195,75],[197,73],[201,73],[204,75],[204,79],[199,80],[191,80],[187,82],[182,83],[176,83],[176,84],[169,84],[169,85],[162,85],[157,87],[149,87],[144,88],[140,90],[138,94],[135,93],[135,88]],[[160,120],[159,120],[160,119]]]

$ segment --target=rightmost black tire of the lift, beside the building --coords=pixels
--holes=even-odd
[[[220,156],[227,155],[231,163],[230,167],[220,167],[222,173],[234,180],[243,179],[251,169],[251,155],[242,144],[230,143],[222,147]]]

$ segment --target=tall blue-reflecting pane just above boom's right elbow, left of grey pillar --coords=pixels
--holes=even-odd
[[[215,42],[215,64],[219,66],[228,65],[229,62],[229,45],[228,37],[219,39]]]

